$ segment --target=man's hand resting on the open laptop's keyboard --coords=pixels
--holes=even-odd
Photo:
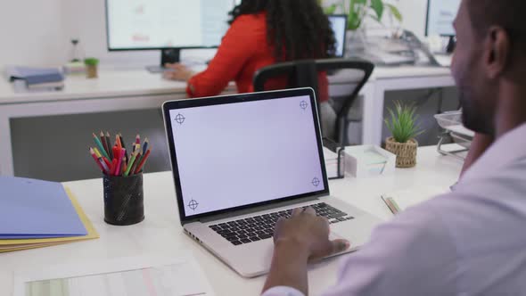
[[[275,226],[275,245],[292,245],[297,251],[305,251],[308,259],[322,259],[349,249],[346,240],[329,241],[329,221],[316,216],[311,207],[292,210],[292,217],[280,219]]]

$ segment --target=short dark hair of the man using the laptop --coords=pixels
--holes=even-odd
[[[504,28],[513,50],[526,56],[526,0],[465,0],[478,37],[485,37],[492,26]]]

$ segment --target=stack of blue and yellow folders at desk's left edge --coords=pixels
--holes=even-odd
[[[60,183],[0,177],[0,252],[98,238],[94,226]]]

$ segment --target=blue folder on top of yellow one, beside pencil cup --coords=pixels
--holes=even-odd
[[[60,183],[0,177],[0,239],[86,235]]]

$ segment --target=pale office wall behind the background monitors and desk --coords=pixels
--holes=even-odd
[[[404,16],[403,27],[423,37],[427,0],[391,2]],[[99,58],[103,68],[137,68],[160,61],[159,51],[107,51],[104,0],[0,0],[0,4],[4,37],[0,67],[63,64],[70,59],[71,38],[78,38],[85,55]]]

